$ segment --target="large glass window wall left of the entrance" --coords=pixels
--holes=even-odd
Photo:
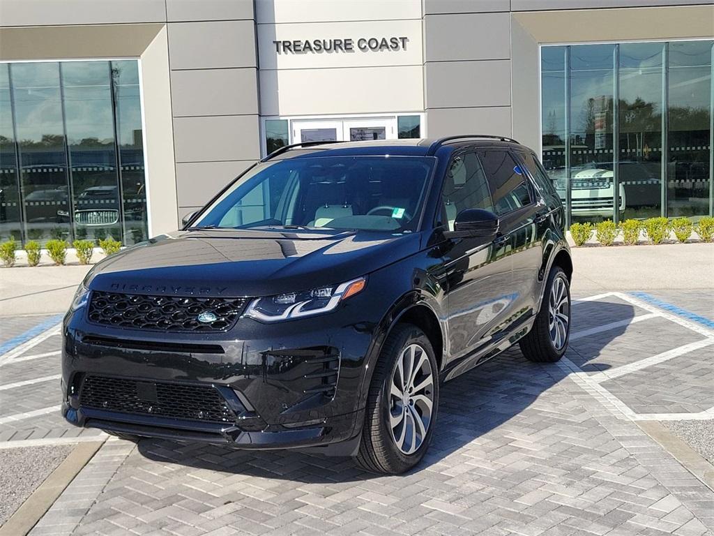
[[[0,240],[147,236],[137,61],[0,64]]]

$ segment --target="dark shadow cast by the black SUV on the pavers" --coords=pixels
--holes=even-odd
[[[630,320],[634,316],[635,309],[630,304],[581,302],[575,304],[572,333]],[[623,334],[625,329],[626,325],[623,325],[588,337],[586,356],[576,353],[572,347],[566,356],[572,355],[573,360],[587,370],[588,356],[597,357],[599,350]],[[599,364],[597,370],[606,368],[607,364]],[[516,345],[480,367],[443,384],[429,451],[412,473],[428,470],[453,452],[513,420],[566,375],[567,372],[558,364],[529,362]],[[524,429],[523,433],[527,434],[528,430]],[[164,464],[306,483],[356,482],[382,476],[361,470],[350,458],[323,457],[288,450],[246,451],[147,439],[139,442],[139,452],[149,460]]]

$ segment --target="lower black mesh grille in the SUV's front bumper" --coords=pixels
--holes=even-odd
[[[214,387],[140,382],[87,375],[79,391],[82,407],[205,422],[235,422],[236,414]]]

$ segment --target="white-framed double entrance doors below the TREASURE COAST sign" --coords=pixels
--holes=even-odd
[[[298,119],[292,122],[293,143],[361,142],[368,139],[396,139],[396,118]]]

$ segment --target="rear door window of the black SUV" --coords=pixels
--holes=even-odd
[[[526,177],[511,154],[503,149],[483,149],[478,152],[478,157],[491,186],[497,216],[531,204]]]

